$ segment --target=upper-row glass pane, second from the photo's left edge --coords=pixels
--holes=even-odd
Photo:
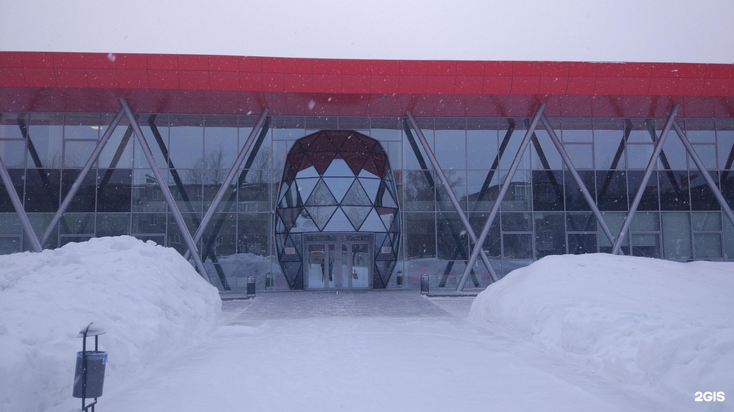
[[[26,165],[37,168],[61,167],[62,114],[31,114],[28,125]]]

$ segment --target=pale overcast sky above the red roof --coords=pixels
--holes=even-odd
[[[733,0],[8,0],[0,9],[0,51],[734,63]]]

